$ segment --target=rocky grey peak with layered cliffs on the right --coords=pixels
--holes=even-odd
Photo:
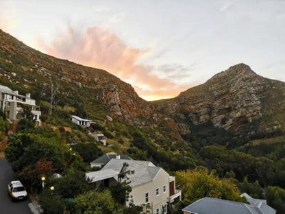
[[[188,123],[207,122],[225,130],[255,123],[256,130],[271,131],[284,128],[285,83],[262,78],[246,64],[236,64],[173,99],[153,104],[175,118],[182,134]]]

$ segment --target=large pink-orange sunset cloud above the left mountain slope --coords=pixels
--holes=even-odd
[[[80,32],[69,26],[65,32],[54,38],[51,45],[40,40],[38,46],[53,56],[105,69],[132,84],[138,95],[145,99],[174,97],[186,89],[165,78],[167,75],[158,77],[153,74],[152,66],[137,63],[150,53],[149,49],[125,45],[119,36],[103,27],[88,27]],[[171,67],[164,68],[164,74],[167,72],[171,72]]]

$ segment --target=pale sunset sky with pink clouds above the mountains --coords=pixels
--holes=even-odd
[[[285,82],[285,0],[0,0],[0,29],[106,71],[147,100],[238,63]]]

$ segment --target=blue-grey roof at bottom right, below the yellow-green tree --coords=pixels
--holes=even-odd
[[[249,196],[250,197],[250,196]],[[249,202],[250,203],[250,202]],[[221,200],[218,198],[201,198],[182,209],[184,214],[275,214],[276,211],[264,202],[245,204]]]

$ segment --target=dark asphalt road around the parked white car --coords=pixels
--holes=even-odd
[[[29,209],[29,199],[12,202],[8,196],[8,182],[14,180],[13,171],[5,158],[0,158],[0,213],[1,214],[32,214]]]

